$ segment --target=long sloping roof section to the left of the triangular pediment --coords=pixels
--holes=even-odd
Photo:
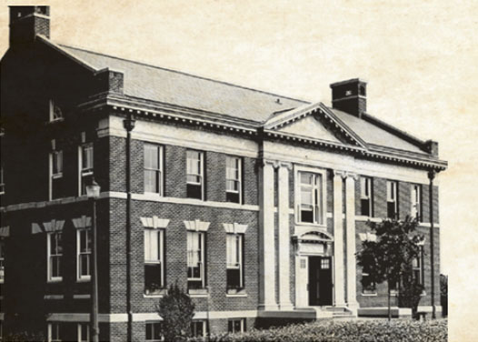
[[[244,86],[231,85],[196,75],[146,65],[72,46],[60,45],[68,53],[96,69],[105,67],[124,73],[124,95],[165,104],[262,122],[284,108],[306,102]]]

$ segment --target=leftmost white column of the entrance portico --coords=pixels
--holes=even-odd
[[[277,309],[275,302],[275,246],[274,246],[274,166],[264,160],[259,176],[260,222],[260,297],[259,309]]]

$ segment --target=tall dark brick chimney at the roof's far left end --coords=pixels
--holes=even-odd
[[[50,37],[50,6],[9,6],[10,46],[27,45],[35,35]]]

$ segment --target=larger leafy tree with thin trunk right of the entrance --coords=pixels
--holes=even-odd
[[[361,267],[367,267],[367,282],[388,283],[388,319],[391,314],[391,289],[401,280],[413,278],[409,274],[412,260],[420,255],[419,244],[423,236],[415,232],[417,221],[406,216],[403,221],[383,219],[380,223],[368,221],[373,238],[363,241],[362,250],[357,253],[357,262]],[[413,273],[413,272],[412,272]],[[407,287],[409,283],[405,285]],[[418,305],[418,303],[417,303]]]

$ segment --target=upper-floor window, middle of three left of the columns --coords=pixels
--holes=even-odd
[[[186,196],[204,199],[204,153],[188,150],[186,160]]]

